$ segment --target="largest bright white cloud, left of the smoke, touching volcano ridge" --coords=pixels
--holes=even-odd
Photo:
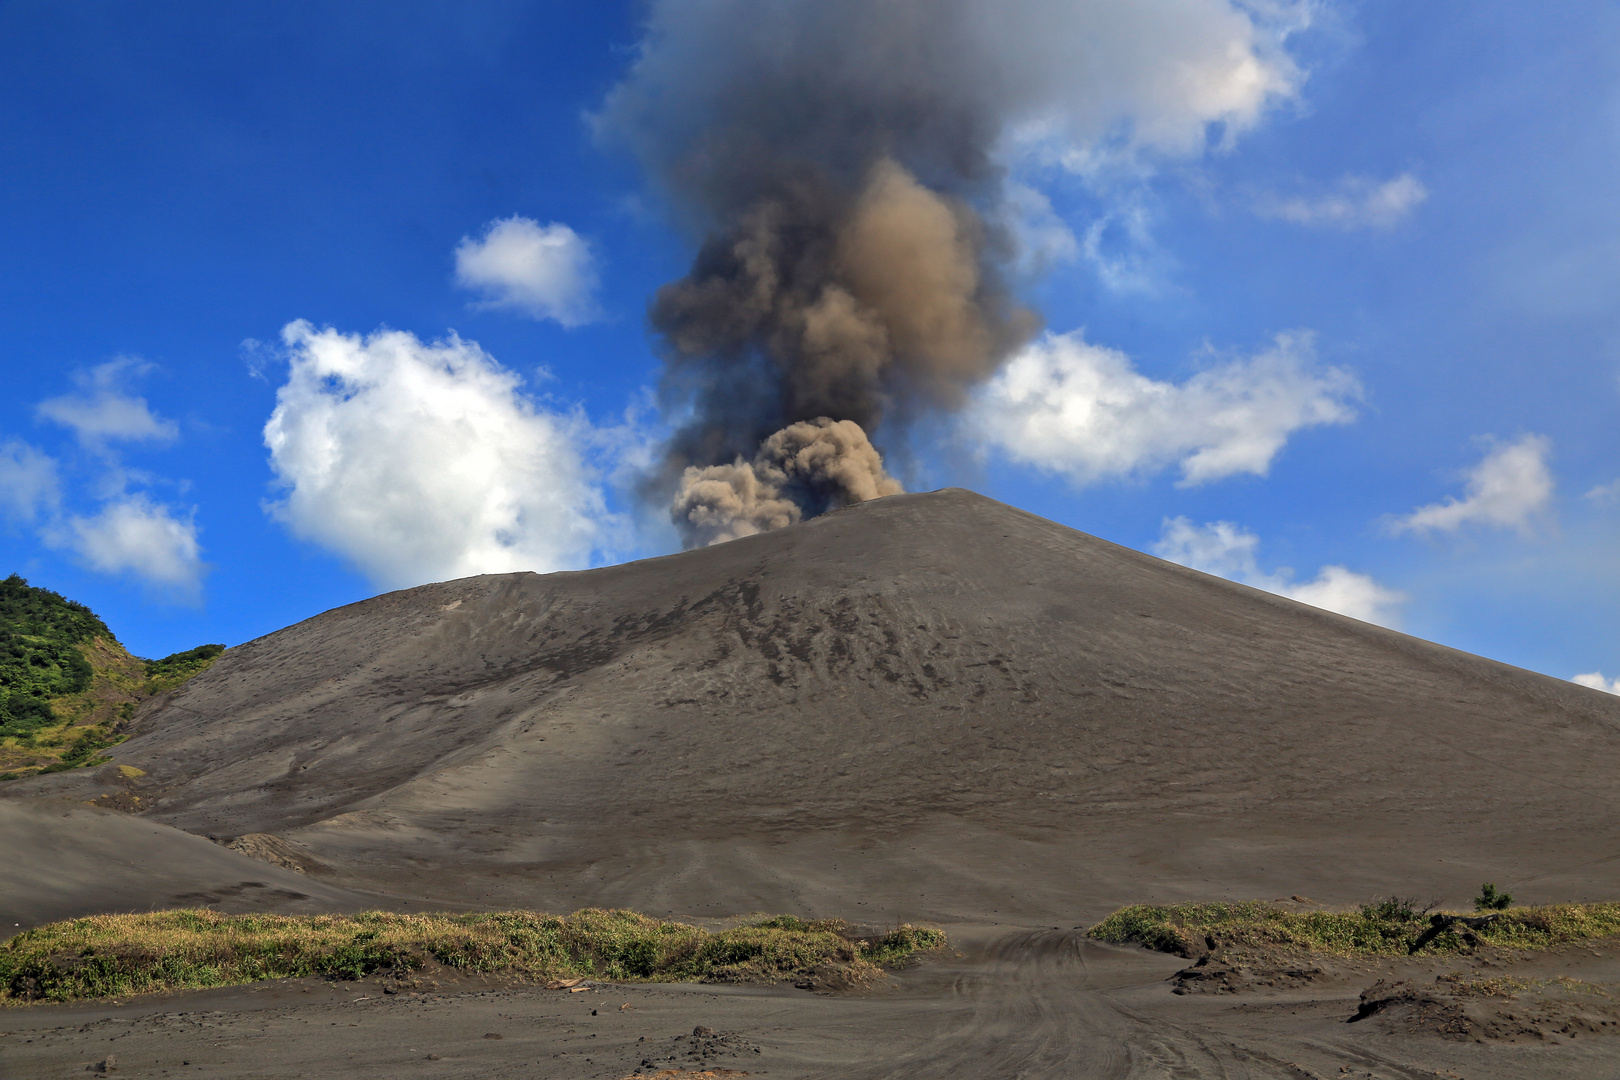
[[[471,342],[292,322],[292,369],[264,426],[296,536],[382,586],[583,567],[608,515],[595,434],[538,408]]]

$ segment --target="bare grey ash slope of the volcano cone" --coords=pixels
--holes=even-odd
[[[956,489],[379,596],[141,727],[149,818],[446,904],[1620,895],[1620,698]]]

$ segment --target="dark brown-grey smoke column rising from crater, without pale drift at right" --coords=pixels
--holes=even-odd
[[[1000,118],[962,6],[663,3],[601,128],[705,236],[658,291],[688,546],[901,491],[868,434],[954,410],[1037,330],[1001,285]]]

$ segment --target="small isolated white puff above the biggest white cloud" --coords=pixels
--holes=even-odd
[[[573,327],[596,317],[596,259],[567,225],[528,217],[489,222],[455,248],[455,280],[484,293],[481,308],[512,308]]]

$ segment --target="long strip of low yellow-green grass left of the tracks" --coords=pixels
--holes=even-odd
[[[854,938],[838,920],[779,916],[708,933],[684,923],[586,908],[573,915],[220,915],[209,910],[94,915],[0,944],[0,1004],[73,1001],[266,978],[364,978],[429,962],[530,980],[773,983],[839,967],[857,978],[944,946],[901,926]]]

